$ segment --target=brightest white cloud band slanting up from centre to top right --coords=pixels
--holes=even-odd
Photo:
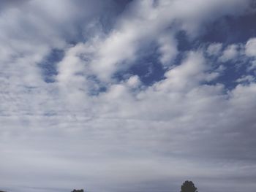
[[[222,15],[233,15],[233,9],[239,8],[239,14],[247,8],[244,1],[213,1],[211,4],[201,0],[189,1],[135,1],[130,6],[130,13],[124,14],[117,22],[110,34],[97,41],[93,41],[95,49],[94,59],[89,66],[100,80],[108,82],[113,74],[127,69],[136,58],[140,48],[148,46],[150,42],[159,42],[159,51],[162,54],[160,61],[166,65],[175,57],[176,42],[173,35],[179,29],[195,37],[200,24],[205,20],[214,20]],[[143,10],[143,11],[141,11]],[[211,13],[218,10],[218,15]],[[202,18],[202,19],[200,19]],[[178,26],[174,24],[178,21]],[[173,34],[165,31],[173,26]],[[163,35],[165,34],[165,35]],[[86,52],[86,50],[85,50]],[[231,56],[231,53],[228,53]],[[231,54],[231,55],[230,55]],[[225,56],[225,57],[226,57]]]

